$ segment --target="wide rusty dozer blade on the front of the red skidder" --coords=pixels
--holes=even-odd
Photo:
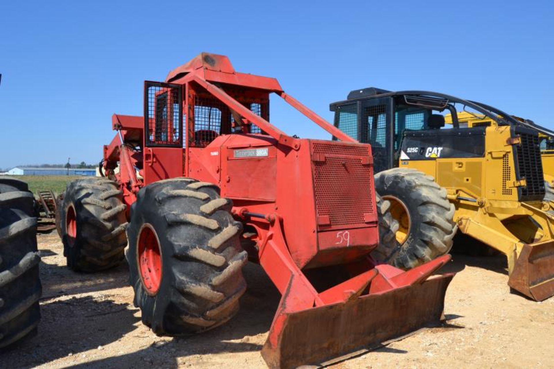
[[[296,304],[291,279],[261,355],[270,368],[319,365],[439,324],[444,295],[454,274],[428,277],[449,259],[450,255],[444,255],[407,272],[378,265],[365,273],[370,280],[363,289],[370,293],[360,296],[343,283],[344,301],[296,311],[291,307]]]

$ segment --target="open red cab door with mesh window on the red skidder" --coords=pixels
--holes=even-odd
[[[144,182],[183,176],[183,94],[177,84],[145,81]]]

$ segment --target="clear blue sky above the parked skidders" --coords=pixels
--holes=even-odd
[[[554,128],[553,2],[120,2],[0,5],[0,168],[98,162],[143,80],[200,52],[278,78],[327,119],[366,86],[436,90]],[[272,101],[273,102],[273,101]],[[271,122],[328,138],[283,104]]]

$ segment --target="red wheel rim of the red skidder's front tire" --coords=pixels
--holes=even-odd
[[[155,295],[162,281],[162,252],[156,231],[150,224],[143,225],[138,244],[142,285],[148,294]]]

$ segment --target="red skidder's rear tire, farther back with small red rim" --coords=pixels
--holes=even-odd
[[[127,245],[125,209],[116,182],[84,178],[68,184],[58,211],[69,268],[93,272],[123,261]]]

